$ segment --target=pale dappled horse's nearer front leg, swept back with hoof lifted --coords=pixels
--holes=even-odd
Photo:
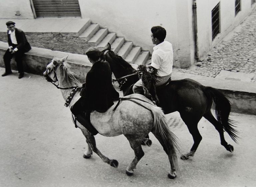
[[[99,155],[99,157],[103,160],[103,162],[108,163],[110,166],[117,168],[118,167],[118,161],[114,160],[114,159],[109,159],[108,157],[106,157],[105,155],[103,155],[98,148],[96,147],[96,141],[94,136],[91,136],[88,134],[86,129],[81,129],[83,132],[83,135],[86,138],[86,142],[89,143],[91,149],[93,150],[93,152],[95,152],[97,155]]]

